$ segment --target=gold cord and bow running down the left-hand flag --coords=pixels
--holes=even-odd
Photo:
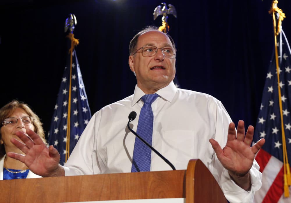
[[[69,33],[66,37],[71,40],[71,48],[69,50],[70,54],[70,86],[69,86],[69,99],[68,99],[68,118],[67,118],[67,144],[66,144],[66,157],[65,162],[67,162],[70,157],[70,120],[71,120],[71,89],[72,89],[72,61],[73,61],[73,51],[75,46],[79,44],[79,39],[74,38],[73,33]]]

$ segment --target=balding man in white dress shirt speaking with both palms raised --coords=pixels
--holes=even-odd
[[[17,136],[25,144],[11,139],[26,155],[7,155],[43,177],[131,172],[135,136],[127,128],[128,114],[138,114],[131,123],[136,131],[141,97],[158,94],[152,103],[152,146],[176,169],[186,169],[189,159],[201,159],[230,202],[252,202],[261,186],[254,157],[265,140],[250,147],[253,126],[245,133],[244,122],[239,121],[236,131],[219,100],[175,87],[176,49],[170,36],[149,27],[132,39],[129,49],[129,67],[137,80],[134,94],[93,115],[65,166],[59,165],[58,151],[52,145],[47,148],[29,130],[33,141],[21,132]],[[150,170],[171,168],[152,153]]]

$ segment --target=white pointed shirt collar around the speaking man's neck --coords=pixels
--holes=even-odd
[[[169,102],[172,102],[176,92],[177,92],[177,87],[175,86],[174,82],[172,81],[166,87],[159,89],[155,93],[157,93],[163,99],[165,99]],[[135,89],[134,89],[132,103],[131,103],[132,106],[134,106],[143,95],[145,95],[145,93],[136,85]]]

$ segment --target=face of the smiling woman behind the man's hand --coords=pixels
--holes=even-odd
[[[29,116],[29,115],[22,108],[17,108],[8,117],[22,118],[24,116]],[[23,123],[21,119],[18,119],[17,123],[3,125],[0,129],[0,132],[1,132],[0,144],[4,144],[5,150],[11,147],[15,148],[15,146],[10,142],[10,139],[14,137],[20,141],[20,139],[15,134],[15,132],[21,131],[26,134],[26,129],[34,130],[33,124]]]

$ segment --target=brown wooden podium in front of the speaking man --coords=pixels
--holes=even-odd
[[[227,202],[199,159],[187,170],[113,173],[0,181],[1,202],[82,202],[186,198],[187,203]]]

